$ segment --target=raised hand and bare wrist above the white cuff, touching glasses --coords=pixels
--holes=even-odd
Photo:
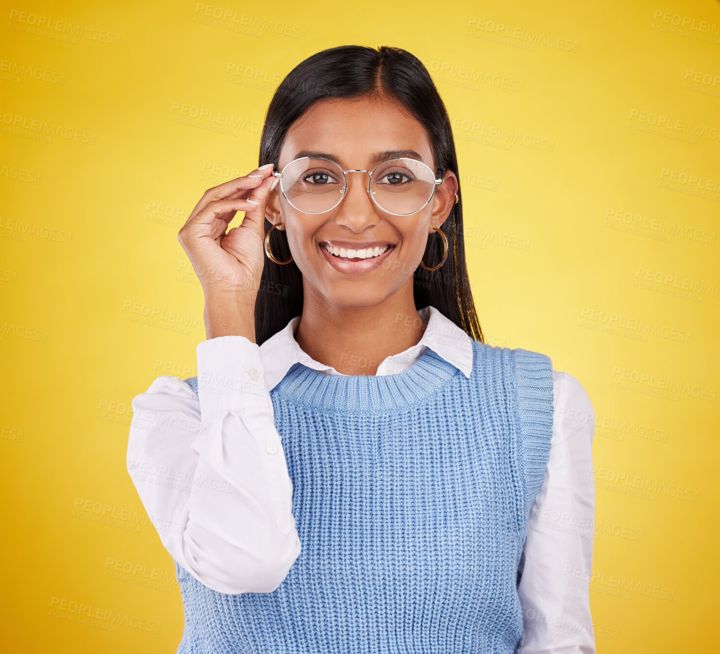
[[[264,259],[265,207],[279,180],[272,164],[207,189],[178,233],[205,294],[205,331],[255,342],[255,302]],[[235,213],[240,226],[225,233]]]

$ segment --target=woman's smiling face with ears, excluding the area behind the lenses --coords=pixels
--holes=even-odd
[[[389,98],[316,102],[288,130],[276,171],[282,171],[302,151],[326,153],[343,170],[372,171],[388,158],[407,157],[426,163],[438,174],[423,125]],[[376,158],[377,153],[388,151],[413,153]],[[289,205],[280,184],[271,192],[266,216],[277,224],[276,230],[287,233],[292,257],[302,272],[306,299],[314,293],[336,307],[367,307],[405,285],[411,287],[428,236],[450,215],[458,188],[452,171],[445,171],[445,182],[436,186],[425,207],[402,216],[385,212],[373,202],[368,175],[348,172],[342,202],[320,214]],[[342,179],[338,180],[338,186],[341,183]],[[440,236],[433,234],[432,238]],[[372,248],[373,254],[387,249],[377,257],[346,261],[330,254],[327,246],[356,251]],[[434,266],[438,261],[425,263]],[[266,265],[274,264],[266,261]]]

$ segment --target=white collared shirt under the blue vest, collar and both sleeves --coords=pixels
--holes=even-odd
[[[429,347],[472,372],[472,340],[436,308],[418,344],[387,357],[377,375],[412,366]],[[269,391],[297,362],[341,375],[294,338],[300,315],[258,346],[220,336],[197,346],[196,397],[178,377],[158,377],[132,400],[127,469],[174,559],[223,593],[271,592],[300,555],[292,480]],[[595,516],[595,416],[580,382],[553,370],[554,424],[544,482],[528,521],[518,585],[521,654],[595,653],[587,584]]]

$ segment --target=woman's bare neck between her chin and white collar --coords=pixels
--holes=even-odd
[[[412,285],[366,307],[331,305],[310,292],[295,340],[312,359],[343,375],[375,375],[384,359],[418,344],[425,328]]]

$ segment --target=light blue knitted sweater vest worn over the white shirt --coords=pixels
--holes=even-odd
[[[178,652],[513,653],[552,384],[544,354],[480,341],[469,378],[429,348],[379,377],[294,364],[270,393],[300,556],[239,595],[176,563]]]

